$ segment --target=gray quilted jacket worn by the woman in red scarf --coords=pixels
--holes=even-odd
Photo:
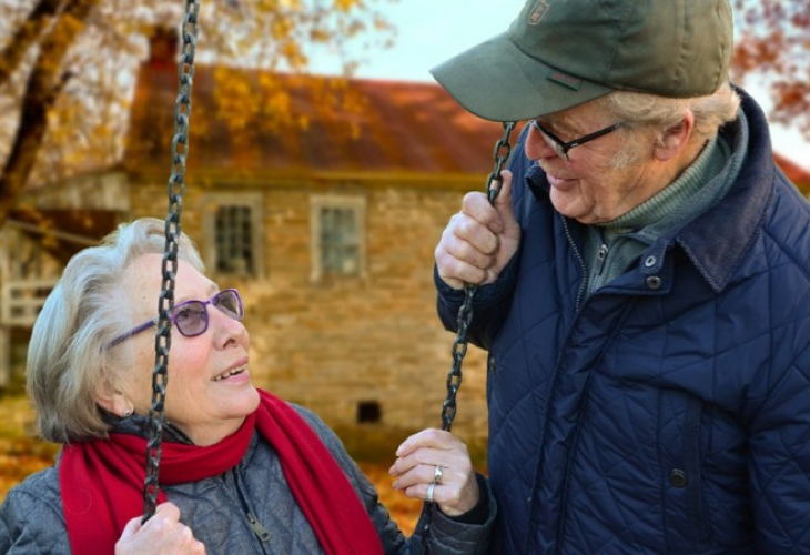
[[[298,406],[295,408],[348,476],[379,533],[385,553],[421,553],[418,533],[405,538],[378,503],[373,484],[345,452],[337,436],[313,413]],[[133,421],[135,418],[125,421],[128,431],[143,428],[143,422]],[[166,436],[165,441],[170,438]],[[479,485],[486,496],[486,522],[465,524],[434,508],[431,553],[460,555],[487,552],[495,521],[495,503],[487,482],[482,477]],[[323,553],[292,496],[275,451],[255,433],[244,458],[231,471],[199,482],[165,486],[163,491],[169,501],[180,508],[182,522],[205,544],[209,555]],[[54,466],[29,476],[11,490],[0,506],[0,554],[70,553],[59,494],[59,472]]]

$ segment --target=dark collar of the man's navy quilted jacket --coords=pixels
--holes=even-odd
[[[776,168],[765,113],[748,93],[741,89],[737,92],[742,99],[748,133],[741,132],[739,119],[721,130],[733,145],[732,155],[745,153],[737,181],[715,206],[684,228],[665,234],[659,244],[652,246],[662,252],[679,244],[716,292],[728,284],[761,232],[774,191]],[[746,137],[748,142],[743,144]],[[526,182],[536,199],[548,202],[549,184],[539,167],[529,170]]]

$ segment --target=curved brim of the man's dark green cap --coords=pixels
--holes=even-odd
[[[527,56],[507,32],[462,52],[431,73],[466,110],[493,121],[539,118],[611,91]]]

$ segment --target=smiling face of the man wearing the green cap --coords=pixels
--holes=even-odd
[[[539,121],[566,142],[616,123],[593,102]],[[642,151],[635,153],[635,163],[621,168],[614,163],[622,139],[627,137],[625,133],[638,132],[619,129],[570,149],[568,160],[565,160],[557,154],[550,139],[531,128],[525,152],[546,172],[551,185],[551,203],[559,213],[586,224],[609,222],[668,184],[661,182],[665,169],[652,157],[651,143],[638,141]]]

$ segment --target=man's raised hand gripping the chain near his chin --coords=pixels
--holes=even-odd
[[[438,275],[453,289],[493,283],[517,251],[520,225],[512,206],[512,172],[502,175],[495,204],[486,193],[467,193],[436,245]]]

